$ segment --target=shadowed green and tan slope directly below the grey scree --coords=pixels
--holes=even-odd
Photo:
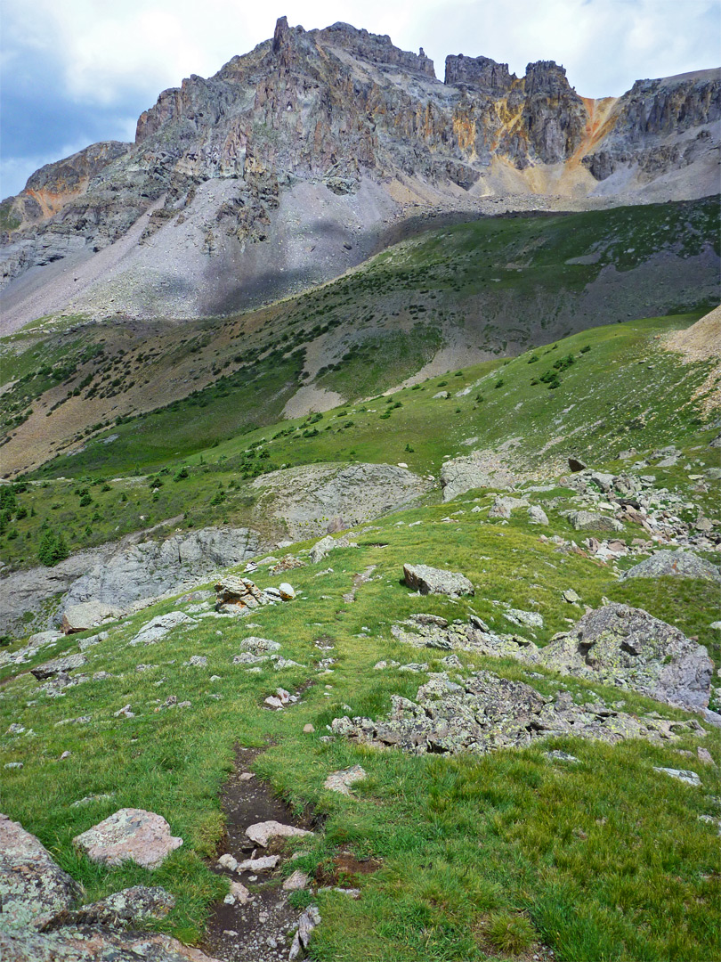
[[[180,326],[44,321],[4,339],[2,382],[15,382],[0,421],[11,439],[7,463],[37,465],[168,402],[169,411],[113,426],[115,469],[197,453],[273,423],[300,383],[303,358],[293,352],[302,350],[305,383],[354,400],[401,383],[444,344],[513,354],[599,323],[701,309],[717,294],[713,269],[685,275],[684,264],[709,247],[718,253],[718,236],[713,200],[488,218],[404,241],[332,284],[246,316]],[[671,266],[682,273],[669,291]],[[612,291],[589,295],[608,270]],[[93,347],[102,353],[82,360]],[[201,403],[202,439],[187,430]]]

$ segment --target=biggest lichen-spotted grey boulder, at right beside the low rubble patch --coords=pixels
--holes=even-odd
[[[669,705],[701,710],[709,704],[713,662],[706,648],[641,608],[609,604],[589,612],[543,648],[540,661]]]

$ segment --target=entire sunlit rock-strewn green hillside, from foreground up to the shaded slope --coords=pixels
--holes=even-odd
[[[5,810],[83,885],[85,904],[152,885],[165,891],[156,914],[169,908],[128,933],[78,928],[71,912],[44,933],[0,935],[10,957],[18,946],[19,958],[62,957],[83,938],[81,957],[94,958],[88,933],[129,951],[139,938],[150,945],[140,924],[218,959],[276,962],[304,912],[304,924],[320,920],[308,957],[334,962],[711,957],[721,756],[719,716],[701,706],[721,707],[720,575],[709,565],[721,468],[717,410],[701,411],[718,370],[669,349],[707,328],[694,316],[604,326],[283,421],[195,453],[186,477],[168,461],[155,493],[153,478],[133,475],[6,486],[11,552],[35,545],[44,520],[72,543],[89,513],[88,526],[108,533],[132,529],[138,512],[146,523],[182,513],[174,537],[213,519],[235,532],[275,518],[259,550],[284,525],[290,538],[274,558],[231,570],[276,591],[251,610],[215,607],[212,584],[237,582],[230,572],[209,582],[209,571],[192,591],[146,598],[79,634],[18,638],[2,655]],[[589,467],[569,473],[569,455]],[[323,463],[348,459],[401,461],[434,482],[363,521],[356,474],[342,533],[317,544],[337,504],[298,519],[293,485],[311,503]],[[306,468],[264,474],[263,461]],[[398,485],[405,468],[395,470]],[[259,484],[276,494],[254,514]],[[304,525],[310,540],[298,541]],[[675,552],[672,568],[664,552]],[[418,594],[404,565],[462,572],[475,595]],[[281,602],[287,581],[294,597]],[[57,601],[30,616],[36,627],[52,623]],[[563,660],[559,632],[584,612],[617,610],[623,623],[668,622],[644,622],[670,647],[644,648],[643,665],[652,679],[668,667],[675,690],[654,681],[652,698],[646,675],[617,661],[582,671]],[[685,658],[695,674],[685,662],[676,672]],[[491,724],[498,686],[503,716]],[[459,692],[485,713],[481,728]],[[674,707],[679,698],[694,707]],[[162,815],[183,845],[154,870],[89,861],[73,839],[124,808]],[[263,819],[313,834],[249,844],[246,828]],[[260,868],[268,853],[274,868]],[[154,938],[158,958],[189,958]]]

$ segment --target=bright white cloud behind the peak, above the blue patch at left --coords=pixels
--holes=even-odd
[[[190,73],[208,76],[271,36],[275,12],[238,0],[5,0],[7,56],[17,44],[60,60],[62,83],[79,100],[109,104],[128,90],[152,97]],[[449,53],[483,54],[522,72],[563,63],[581,92],[619,94],[637,77],[712,66],[715,0],[291,0],[291,24],[337,19],[423,45],[442,78]]]

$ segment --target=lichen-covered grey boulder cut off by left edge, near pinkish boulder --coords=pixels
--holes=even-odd
[[[81,888],[19,822],[0,815],[0,932],[22,934],[71,908]],[[0,958],[5,958],[0,941]]]

